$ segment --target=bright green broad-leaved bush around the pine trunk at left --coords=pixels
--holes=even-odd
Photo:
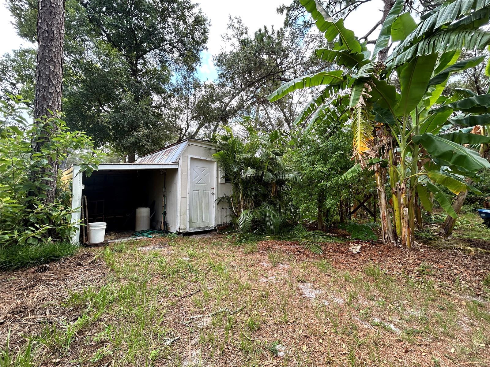
[[[46,205],[47,181],[52,181],[47,157],[63,162],[72,152],[87,164],[81,171],[90,174],[97,169],[98,152],[91,138],[79,131],[70,131],[61,115],[53,115],[40,124],[28,122],[30,110],[21,108],[20,96],[11,102],[0,101],[0,243],[5,245],[38,244],[49,239],[67,240],[74,231],[71,223],[71,182],[61,180],[57,171],[54,203]],[[50,138],[36,152],[31,141],[50,130]],[[3,251],[4,249],[2,249]]]

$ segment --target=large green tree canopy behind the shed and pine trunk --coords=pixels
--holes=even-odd
[[[36,1],[10,0],[8,8],[19,35],[35,42]],[[68,126],[86,131],[98,145],[112,145],[129,161],[172,140],[172,123],[162,113],[172,97],[172,75],[195,70],[207,42],[207,19],[196,4],[69,0],[65,23]],[[28,72],[12,71],[32,64],[35,53],[23,52],[31,59],[12,63],[4,57],[2,91],[30,88]]]

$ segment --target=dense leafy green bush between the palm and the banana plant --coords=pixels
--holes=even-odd
[[[287,186],[288,213],[294,221],[318,221],[318,229],[326,230],[328,224],[342,221],[351,202],[362,201],[372,192],[372,172],[341,179],[354,161],[350,160],[352,132],[342,129],[339,121],[319,118],[297,135],[296,144],[284,158],[302,172],[303,185]]]

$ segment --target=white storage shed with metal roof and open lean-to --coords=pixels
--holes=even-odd
[[[106,222],[108,231],[134,230],[134,212],[142,206],[151,209],[150,228],[163,229],[166,223],[170,232],[229,223],[230,208],[217,199],[230,194],[231,184],[213,160],[212,149],[206,140],[185,139],[135,163],[100,164],[89,177],[80,173],[80,165],[67,168],[63,180],[73,180],[72,220],[80,220],[85,197],[88,222]],[[79,240],[79,230],[73,240]]]

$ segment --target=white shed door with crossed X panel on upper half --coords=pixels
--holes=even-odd
[[[189,188],[189,229],[214,227],[213,161],[191,158]]]

